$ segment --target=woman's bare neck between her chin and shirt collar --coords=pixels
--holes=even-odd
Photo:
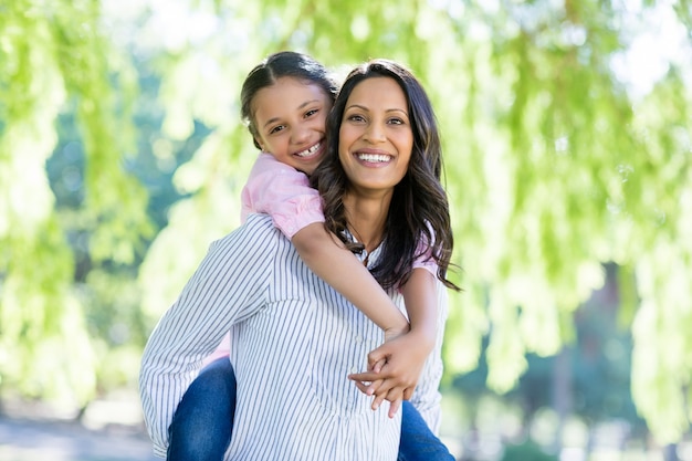
[[[385,235],[389,200],[346,196],[344,208],[348,230],[368,253],[375,250]]]

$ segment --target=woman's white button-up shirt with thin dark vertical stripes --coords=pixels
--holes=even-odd
[[[365,370],[380,328],[310,271],[264,214],[211,244],[147,343],[139,386],[157,454],[202,359],[228,332],[238,402],[226,460],[397,459],[401,412],[373,411],[347,379]],[[438,347],[411,399],[433,429],[441,370]]]

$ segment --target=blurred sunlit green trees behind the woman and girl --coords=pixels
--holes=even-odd
[[[149,332],[239,224],[242,80],[291,49],[433,99],[459,458],[692,460],[691,31],[686,0],[0,0],[2,408],[138,408]]]

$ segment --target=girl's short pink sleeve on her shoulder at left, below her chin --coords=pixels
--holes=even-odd
[[[241,220],[250,213],[266,213],[289,239],[313,222],[324,222],[319,193],[307,176],[277,161],[270,154],[260,154],[241,192]]]

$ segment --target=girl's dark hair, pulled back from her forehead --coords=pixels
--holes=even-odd
[[[294,51],[270,54],[250,71],[240,91],[240,115],[248,125],[252,142],[258,149],[261,147],[256,142],[259,134],[254,126],[252,101],[260,90],[272,86],[279,78],[286,76],[322,86],[332,101],[338,92],[338,85],[327,69],[307,54]]]

